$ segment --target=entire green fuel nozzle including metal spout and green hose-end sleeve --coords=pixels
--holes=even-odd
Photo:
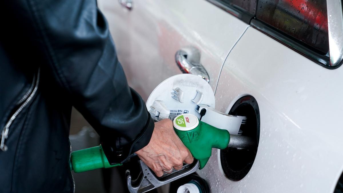
[[[212,148],[251,146],[249,139],[245,139],[244,136],[236,139],[237,136],[233,135],[233,140],[230,141],[230,134],[227,130],[218,129],[199,121],[198,117],[192,114],[181,114],[175,117],[173,126],[182,143],[189,149],[193,157],[199,160],[199,169],[202,169],[210,159]],[[101,145],[73,151],[70,158],[70,169],[75,173],[121,165],[120,163],[109,164]]]

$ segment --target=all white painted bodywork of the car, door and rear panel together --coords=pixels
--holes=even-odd
[[[174,56],[187,46],[200,50],[217,110],[228,113],[241,96],[257,100],[256,160],[243,180],[231,181],[214,149],[198,170],[212,192],[333,192],[343,170],[342,68],[321,67],[204,0],[136,0],[131,11],[116,0],[98,3],[144,100],[181,73]]]

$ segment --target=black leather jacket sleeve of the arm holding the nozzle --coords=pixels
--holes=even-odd
[[[149,143],[154,123],[127,84],[95,0],[18,0],[9,8],[36,42],[44,69],[101,136],[110,163]]]

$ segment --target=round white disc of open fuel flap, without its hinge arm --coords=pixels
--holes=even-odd
[[[156,120],[169,118],[172,121],[176,116],[184,113],[200,118],[199,104],[214,109],[214,93],[208,82],[191,74],[179,74],[164,80],[152,91],[146,101],[151,117]],[[169,116],[166,117],[168,111]]]

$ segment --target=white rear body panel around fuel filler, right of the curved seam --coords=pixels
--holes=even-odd
[[[224,176],[213,150],[198,171],[211,191],[333,192],[343,167],[342,81],[342,68],[321,67],[249,27],[225,61],[215,98],[226,113],[241,96],[256,99],[259,147],[238,182]]]

